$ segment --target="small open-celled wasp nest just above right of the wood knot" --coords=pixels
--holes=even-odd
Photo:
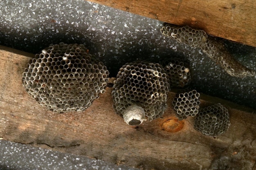
[[[188,93],[176,94],[173,99],[173,107],[179,120],[186,119],[188,116],[195,117],[198,114],[200,104],[200,93],[195,90]]]

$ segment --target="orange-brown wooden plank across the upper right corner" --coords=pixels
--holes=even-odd
[[[255,0],[88,0],[256,47]],[[160,28],[159,28],[160,29]]]

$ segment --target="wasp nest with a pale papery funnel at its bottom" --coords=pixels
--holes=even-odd
[[[166,110],[168,91],[169,84],[160,64],[126,63],[114,81],[113,108],[127,124],[151,121]]]

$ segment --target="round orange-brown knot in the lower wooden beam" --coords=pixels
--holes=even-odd
[[[178,132],[184,127],[184,121],[180,121],[177,118],[172,118],[164,121],[162,124],[162,130],[167,132]]]

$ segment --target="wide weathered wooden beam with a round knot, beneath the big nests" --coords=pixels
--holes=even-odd
[[[168,94],[169,107],[162,118],[136,127],[114,113],[111,87],[83,112],[53,113],[22,86],[22,72],[31,56],[0,46],[3,140],[145,170],[208,170],[225,162],[233,170],[256,169],[255,110],[202,94],[201,107],[220,102],[230,113],[231,126],[215,138],[194,130],[193,118],[177,121],[171,108],[174,92]]]

